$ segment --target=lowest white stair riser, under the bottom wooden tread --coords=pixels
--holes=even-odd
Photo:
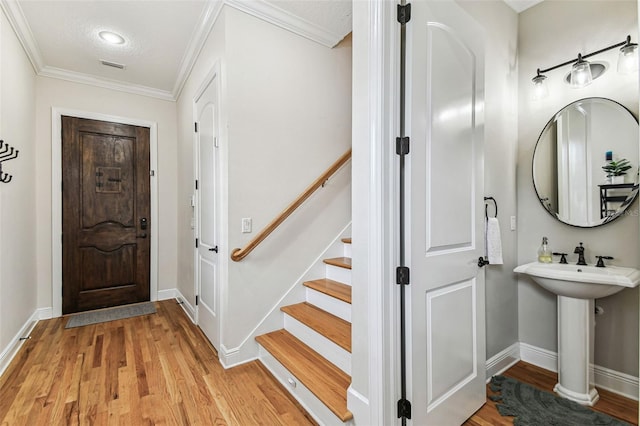
[[[321,425],[353,426],[353,421],[343,423],[327,408],[297,377],[289,372],[273,355],[260,346],[258,357],[260,362],[278,379],[289,393],[304,407],[305,410]]]

